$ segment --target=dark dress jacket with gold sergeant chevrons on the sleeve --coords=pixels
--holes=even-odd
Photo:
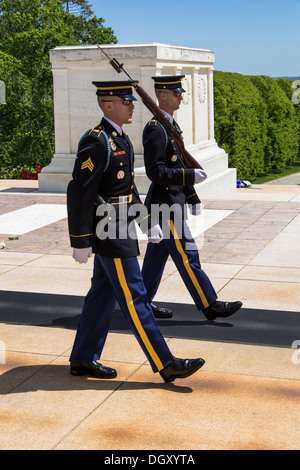
[[[134,183],[132,144],[125,135],[120,136],[104,118],[86,134],[79,142],[73,179],[67,189],[71,246],[91,246],[94,253],[112,258],[137,256],[139,248],[136,238],[122,236],[119,239],[120,213],[122,225],[127,224],[128,227],[133,221],[133,217],[125,217],[129,207],[142,204]],[[97,194],[112,203],[115,209],[111,223],[115,224],[116,237],[100,240],[96,236]],[[127,207],[125,212],[124,204]]]

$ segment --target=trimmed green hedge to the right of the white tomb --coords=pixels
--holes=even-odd
[[[299,157],[292,81],[214,72],[215,138],[239,179],[281,173]]]

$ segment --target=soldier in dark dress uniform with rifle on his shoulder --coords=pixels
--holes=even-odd
[[[171,124],[180,131],[173,114],[182,101],[184,75],[152,77],[160,109]],[[201,202],[194,184],[207,178],[205,171],[187,168],[176,143],[165,128],[153,118],[143,132],[144,160],[151,185],[145,204],[149,212],[157,205],[167,205],[176,210],[166,220],[160,217],[163,240],[159,244],[148,243],[142,276],[151,302],[159,287],[166,261],[171,255],[198,310],[208,320],[234,314],[242,303],[222,302],[210,279],[201,269],[198,249],[186,223],[186,205],[193,215],[201,214]],[[170,313],[170,316],[172,312]]]

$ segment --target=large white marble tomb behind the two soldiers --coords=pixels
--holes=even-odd
[[[154,75],[185,75],[186,90],[175,119],[183,130],[188,151],[207,171],[209,178],[197,186],[201,193],[233,192],[236,170],[228,168],[228,156],[214,138],[213,67],[209,50],[164,44],[103,45],[134,80],[155,99]],[[39,190],[65,192],[74,166],[78,141],[96,126],[102,112],[92,81],[126,80],[118,74],[97,46],[57,47],[50,51],[54,78],[55,155],[39,174]],[[137,94],[135,93],[137,96]],[[138,98],[134,122],[124,126],[135,148],[135,180],[140,194],[146,194],[149,180],[143,163],[142,132],[151,113]]]

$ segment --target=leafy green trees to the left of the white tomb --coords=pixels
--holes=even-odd
[[[66,3],[77,5],[79,14],[66,11]],[[0,80],[6,87],[6,104],[0,104],[0,177],[21,177],[24,167],[50,163],[54,110],[49,51],[62,45],[115,43],[113,31],[103,23],[85,0],[0,0]]]

